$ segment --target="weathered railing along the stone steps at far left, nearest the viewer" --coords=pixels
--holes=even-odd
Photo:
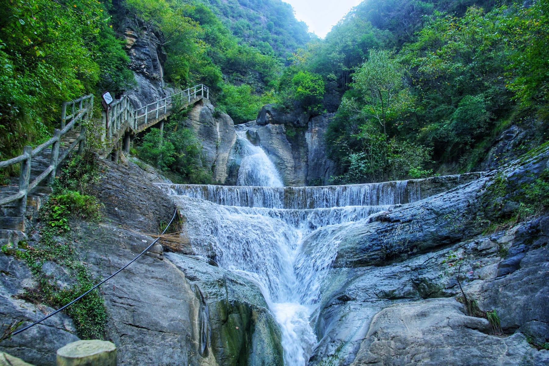
[[[67,107],[70,108],[71,114],[66,115]],[[93,111],[93,95],[86,95],[79,99],[72,100],[71,102],[63,103],[63,109],[61,111],[61,129],[54,129],[53,137],[38,145],[32,149],[30,146],[23,148],[23,155],[14,157],[13,159],[0,161],[0,168],[7,168],[15,164],[21,164],[19,174],[19,192],[3,199],[0,199],[0,206],[8,204],[10,202],[18,201],[18,212],[20,216],[25,215],[27,205],[27,194],[36,188],[44,179],[49,177],[49,183],[53,183],[55,179],[55,173],[59,164],[65,160],[69,153],[74,150],[76,145],[79,145],[79,151],[83,150],[86,144],[86,128],[82,126],[82,121],[88,120]],[[69,123],[66,123],[70,120]],[[80,134],[72,142],[67,149],[59,155],[59,144],[61,137],[65,133],[71,131],[76,125],[79,125]],[[44,149],[52,147],[49,166],[38,176],[30,181],[31,178],[31,163],[32,158],[41,154]]]

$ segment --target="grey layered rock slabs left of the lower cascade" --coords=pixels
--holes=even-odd
[[[96,194],[105,205],[105,223],[72,221],[71,235],[59,240],[74,245],[94,275],[107,277],[152,243],[144,233],[157,233],[174,206],[139,179],[137,166],[105,161],[102,170]],[[4,324],[40,318],[39,309],[52,311],[18,299],[33,286],[23,262],[4,254],[0,261]],[[101,293],[108,313],[105,338],[116,345],[119,365],[282,365],[280,330],[257,286],[199,258],[164,254],[156,244]],[[0,349],[26,362],[55,365],[55,351],[78,340],[74,332],[72,321],[58,314]]]

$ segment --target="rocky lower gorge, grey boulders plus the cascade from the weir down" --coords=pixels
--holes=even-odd
[[[132,162],[105,161],[94,188],[105,221],[75,221],[58,240],[101,277],[150,243],[173,202],[180,212],[187,251],[156,245],[102,286],[119,364],[542,365],[549,354],[532,345],[549,337],[549,218],[495,230],[486,219],[512,210],[505,202],[548,162],[542,147],[489,173],[270,188],[149,183]],[[51,311],[25,300],[37,286],[26,264],[0,258],[3,323]],[[48,271],[71,282],[63,265]],[[460,285],[481,312],[497,311],[501,332],[470,316]],[[54,364],[74,333],[55,316],[2,350]]]

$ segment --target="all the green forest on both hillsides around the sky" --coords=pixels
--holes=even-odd
[[[547,1],[366,0],[320,40],[278,0],[10,0],[2,158],[48,137],[63,100],[135,86],[120,9],[159,32],[168,86],[205,83],[236,123],[267,103],[337,111],[334,182],[473,170],[513,125],[519,149],[547,139]]]

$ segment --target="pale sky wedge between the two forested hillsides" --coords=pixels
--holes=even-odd
[[[361,0],[283,0],[295,10],[295,18],[309,26],[309,32],[324,38],[337,22]]]

